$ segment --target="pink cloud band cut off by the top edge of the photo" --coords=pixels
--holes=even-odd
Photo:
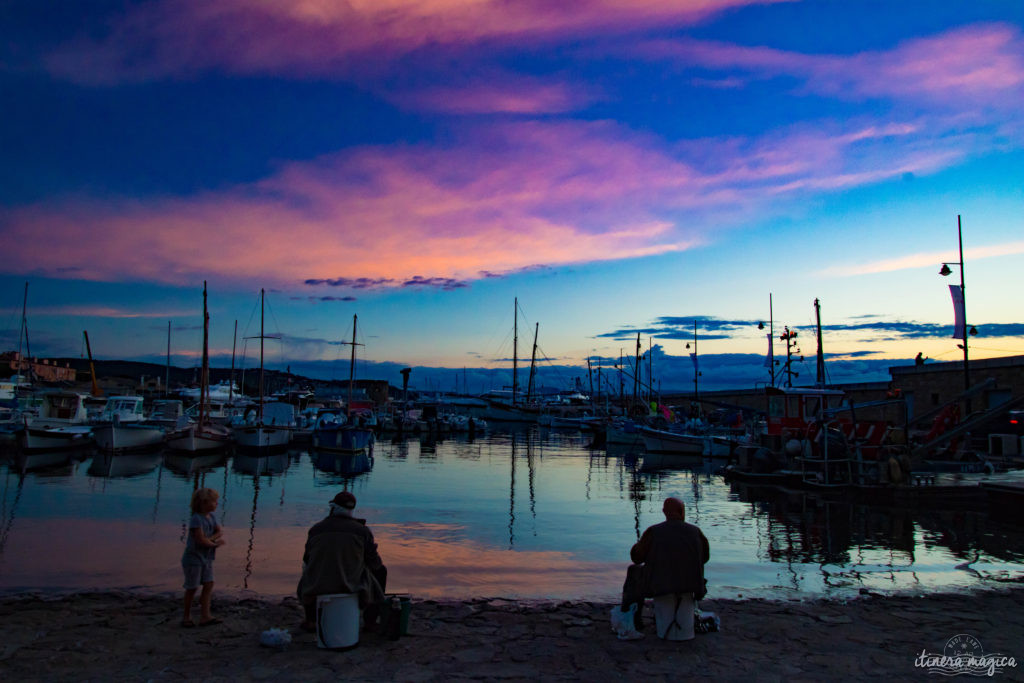
[[[687,26],[717,12],[786,0],[163,0],[113,19],[99,39],[49,55],[62,77],[109,84],[188,76],[353,74],[433,48],[538,43]],[[358,62],[358,68],[355,67]]]

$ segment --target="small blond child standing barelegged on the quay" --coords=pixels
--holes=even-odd
[[[191,603],[196,591],[203,586],[199,596],[200,626],[220,624],[221,620],[210,613],[210,598],[213,595],[213,558],[216,549],[224,545],[221,538],[222,529],[214,517],[217,501],[220,495],[213,488],[199,488],[193,494],[191,519],[188,521],[188,539],[185,542],[185,552],[181,556],[181,568],[185,574],[184,616],[181,626],[191,628],[196,623],[191,620]]]

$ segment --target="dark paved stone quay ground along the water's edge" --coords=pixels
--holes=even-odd
[[[938,680],[914,659],[942,653],[956,634],[986,653],[1024,658],[1024,589],[701,607],[720,615],[722,630],[675,643],[649,623],[643,640],[617,640],[607,604],[414,601],[409,636],[365,635],[355,649],[333,652],[295,628],[294,599],[215,596],[224,623],[182,629],[168,596],[20,596],[0,600],[0,680]],[[287,649],[259,645],[273,627],[292,629]],[[1000,678],[1024,680],[1024,663]]]

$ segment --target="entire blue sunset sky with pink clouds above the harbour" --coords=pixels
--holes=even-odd
[[[815,298],[830,379],[884,379],[962,357],[961,215],[972,357],[1024,354],[1018,0],[61,0],[0,38],[0,348],[28,282],[34,355],[163,362],[170,322],[194,366],[207,281],[225,366],[265,288],[274,367],[347,377],[357,314],[360,375],[498,388],[518,297],[550,385],[640,332],[691,386],[696,321],[746,387],[771,296],[801,380]]]

